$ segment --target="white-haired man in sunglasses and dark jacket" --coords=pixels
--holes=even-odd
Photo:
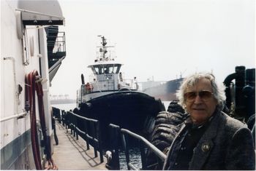
[[[224,89],[211,73],[184,79],[177,96],[189,118],[170,146],[164,170],[255,170],[252,133],[222,112]]]

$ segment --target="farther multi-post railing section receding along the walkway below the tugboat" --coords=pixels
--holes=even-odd
[[[99,151],[100,162],[104,162],[99,121],[74,114],[71,111],[62,112],[59,117],[61,118],[63,126],[66,127],[66,129],[70,129],[71,134],[76,137],[77,140],[78,135],[80,135],[80,137],[86,141],[87,150],[90,149],[90,145],[94,147],[95,157],[98,156],[97,151]]]

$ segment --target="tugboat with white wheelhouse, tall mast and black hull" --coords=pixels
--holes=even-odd
[[[102,130],[108,125],[116,124],[121,128],[148,137],[154,127],[154,121],[159,111],[165,111],[161,100],[138,91],[136,78],[125,80],[120,72],[121,63],[116,62],[113,51],[108,49],[104,36],[101,46],[97,47],[97,59],[89,65],[94,73],[94,81],[85,84],[83,74],[82,85],[78,90],[78,108],[75,113],[91,119],[97,119]],[[102,133],[102,142],[108,146],[108,134]]]

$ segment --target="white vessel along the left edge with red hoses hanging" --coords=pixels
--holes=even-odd
[[[58,1],[1,1],[1,170],[54,167],[49,87],[63,24]]]

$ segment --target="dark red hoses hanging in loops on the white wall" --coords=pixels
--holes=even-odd
[[[31,145],[34,156],[34,163],[37,170],[42,170],[41,157],[39,152],[39,143],[37,135],[37,115],[36,115],[36,103],[35,103],[35,91],[37,90],[37,100],[39,107],[39,118],[42,128],[42,136],[45,142],[45,152],[48,160],[48,167],[46,169],[57,170],[56,164],[54,164],[53,159],[51,158],[50,152],[50,137],[47,136],[47,128],[45,124],[45,111],[43,104],[43,92],[41,81],[36,81],[37,76],[39,76],[37,71],[30,72],[26,74],[26,104],[29,103],[30,111],[30,122],[31,122]]]

